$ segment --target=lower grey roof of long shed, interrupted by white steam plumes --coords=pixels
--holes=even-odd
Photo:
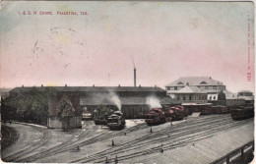
[[[147,105],[147,97],[120,97],[122,105]],[[160,104],[173,104],[170,97],[159,98]],[[98,98],[82,96],[80,97],[80,105],[115,105],[115,103],[107,97]]]

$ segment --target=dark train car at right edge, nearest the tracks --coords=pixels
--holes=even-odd
[[[254,117],[254,107],[237,107],[231,110],[233,120],[244,120]]]

